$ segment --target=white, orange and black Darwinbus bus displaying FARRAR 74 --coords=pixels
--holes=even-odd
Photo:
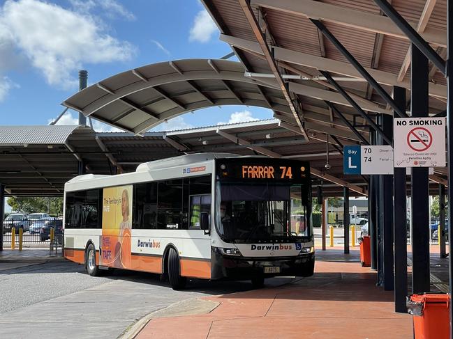
[[[313,275],[308,162],[198,153],[133,173],[79,175],[64,191],[64,256],[112,269],[251,280]]]

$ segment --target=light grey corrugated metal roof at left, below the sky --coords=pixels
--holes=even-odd
[[[64,144],[80,128],[90,129],[82,125],[0,126],[0,145]]]

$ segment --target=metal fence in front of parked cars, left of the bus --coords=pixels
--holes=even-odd
[[[24,244],[50,244],[51,228],[54,235],[63,234],[63,220],[61,217],[28,219],[27,216],[3,220],[3,244],[11,243],[13,238],[12,230],[15,229],[15,243],[19,244],[20,229],[22,229],[22,242]]]

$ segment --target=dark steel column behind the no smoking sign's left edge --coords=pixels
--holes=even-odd
[[[406,107],[406,89],[394,86],[394,100],[399,107]],[[393,177],[394,191],[394,299],[395,312],[407,313],[408,295],[408,237],[406,232],[406,168],[395,167]]]

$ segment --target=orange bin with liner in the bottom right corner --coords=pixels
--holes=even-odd
[[[450,338],[448,294],[413,294],[407,306],[413,315],[415,339]]]

